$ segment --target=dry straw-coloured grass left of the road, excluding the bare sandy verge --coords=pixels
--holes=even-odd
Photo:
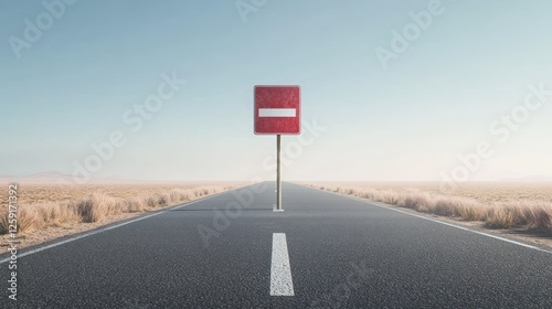
[[[215,185],[92,184],[20,185],[18,232],[97,223],[124,213],[141,213],[225,191],[237,183]],[[7,187],[6,187],[7,188]],[[3,196],[2,196],[3,194]],[[8,201],[6,192],[0,200]],[[0,210],[0,234],[8,233],[8,209]]]

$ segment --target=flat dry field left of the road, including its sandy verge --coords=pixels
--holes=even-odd
[[[18,248],[244,185],[237,182],[18,183]],[[0,184],[1,247],[9,246],[9,183]]]

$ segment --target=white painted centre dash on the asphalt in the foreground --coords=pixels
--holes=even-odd
[[[294,296],[294,283],[291,280],[285,233],[273,234],[270,296]]]

